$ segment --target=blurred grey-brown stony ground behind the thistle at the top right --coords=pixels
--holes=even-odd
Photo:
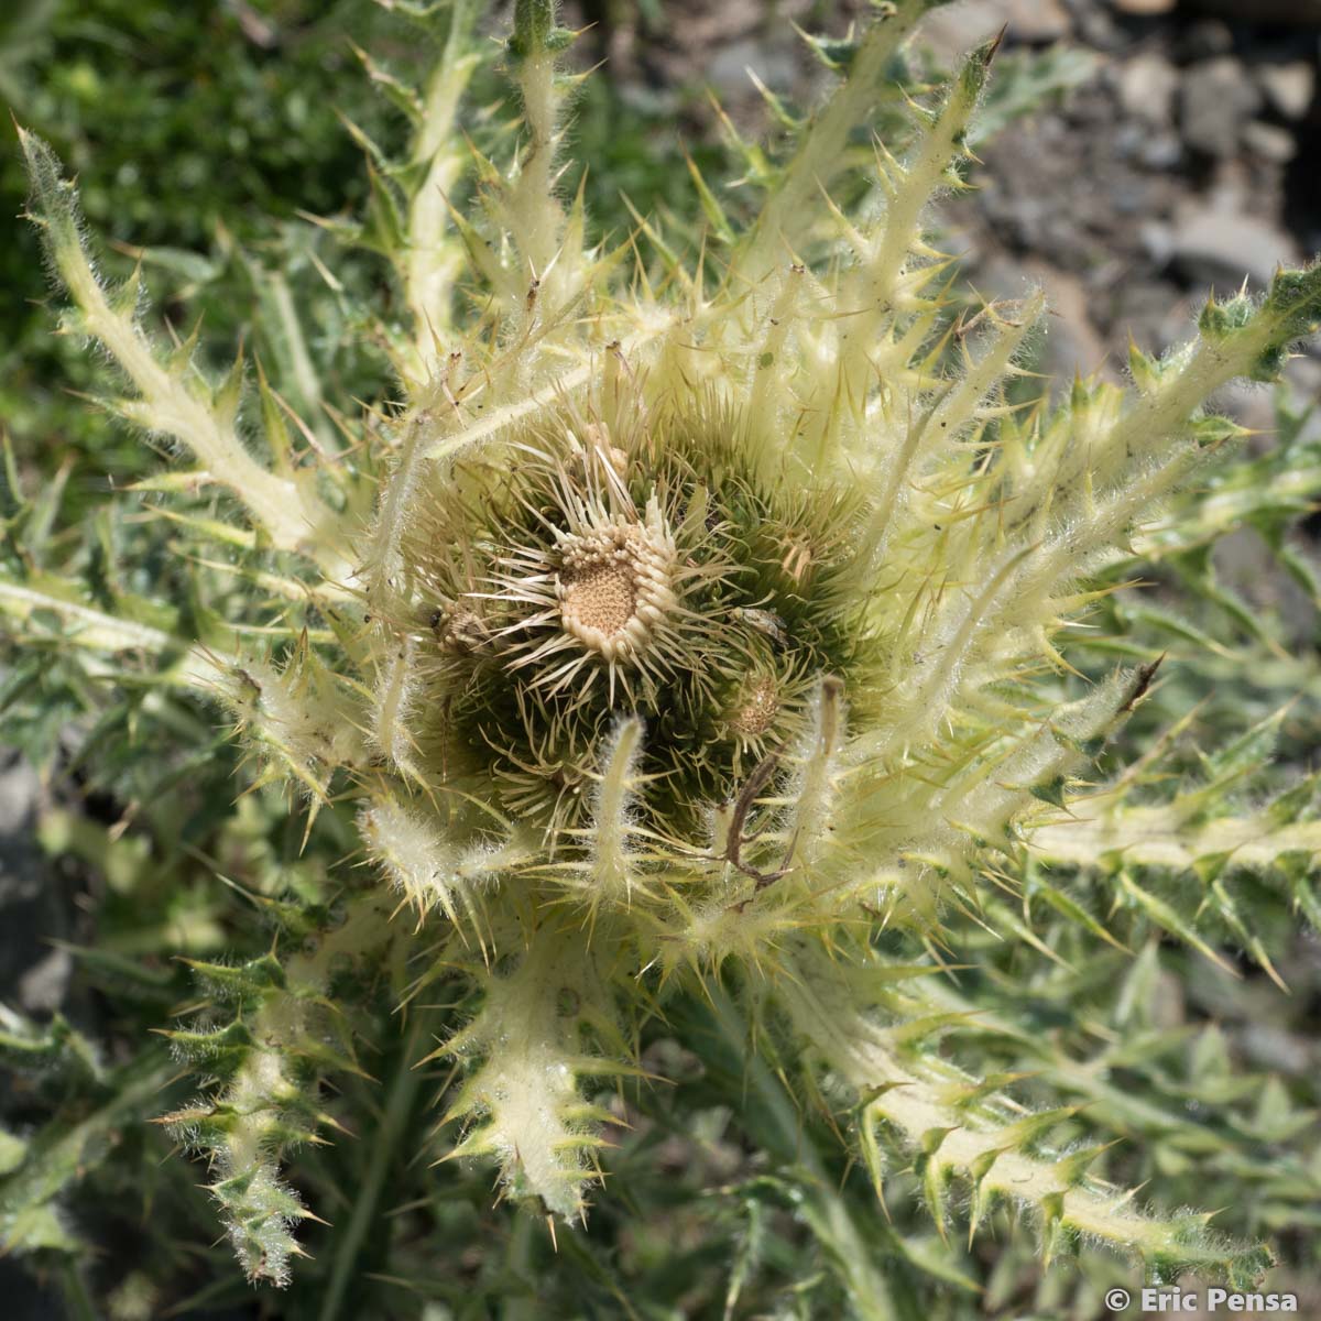
[[[737,120],[756,114],[748,67],[773,90],[811,95],[787,18],[840,30],[861,8],[587,0],[577,12],[598,24],[617,81],[653,99],[709,83]],[[1061,104],[982,151],[980,190],[948,209],[979,288],[1046,288],[1046,370],[1119,376],[1129,333],[1165,347],[1210,285],[1247,276],[1260,288],[1279,262],[1321,251],[1321,0],[962,0],[923,34],[951,63],[1001,28],[1007,50],[1065,44],[1095,57]],[[1293,370],[1300,388],[1321,386],[1321,365]],[[1264,392],[1227,406],[1269,427]]]

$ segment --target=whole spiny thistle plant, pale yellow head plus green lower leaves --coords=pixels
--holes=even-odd
[[[116,1069],[148,1096],[184,1069],[190,1095],[132,1114],[201,1161],[248,1279],[289,1283],[316,1255],[309,1222],[336,1222],[329,1264],[305,1263],[322,1316],[376,1232],[384,1173],[321,1207],[316,1176],[287,1174],[320,1159],[301,1145],[378,1123],[396,1141],[439,1091],[412,1153],[440,1161],[427,1196],[494,1170],[520,1260],[544,1221],[567,1271],[596,1215],[627,1206],[630,1123],[680,1082],[662,1038],[711,1086],[729,1070],[761,1177],[798,1189],[859,1316],[935,1314],[933,1279],[975,1283],[964,1240],[1015,1221],[1046,1262],[1118,1250],[1092,1279],[1127,1259],[1243,1287],[1272,1262],[1263,1235],[1308,1214],[1314,1161],[1244,1155],[1299,1128],[1287,1089],[1256,1129],[1232,1087],[1206,1085],[1223,1114],[1190,1119],[1170,1100],[1188,1048],[1149,1016],[1180,942],[1217,976],[1279,978],[1272,951],[1318,911],[1314,783],[1269,764],[1289,662],[1266,625],[1188,643],[1225,605],[1214,540],[1255,520],[1284,555],[1321,489],[1291,415],[1275,458],[1244,458],[1211,403],[1277,378],[1321,318],[1321,269],[1213,296],[1182,347],[1132,350],[1127,388],[1078,379],[1052,400],[1030,370],[1044,296],[978,300],[935,236],[941,198],[971,186],[997,44],[914,83],[929,8],[877,4],[849,41],[814,40],[824,103],[797,119],[771,98],[777,147],[733,140],[754,206],[694,166],[700,222],[637,214],[613,235],[567,182],[581,75],[550,0],[518,0],[495,55],[509,125],[469,96],[478,7],[420,15],[424,86],[365,55],[410,155],[363,137],[370,214],[320,222],[388,263],[388,305],[359,324],[398,388],[322,416],[242,351],[215,379],[196,336],[166,342],[22,135],[65,329],[107,355],[107,406],[176,468],[125,493],[95,555],[52,539],[11,461],[0,608],[135,709],[184,704],[194,738],[227,721],[243,802],[264,804],[243,810],[306,852],[234,886],[255,943],[176,948],[194,993],[157,1024],[169,1057],[111,1065],[67,1025],[18,1021],[7,1046],[61,1078],[73,1052],[108,1098]],[[894,141],[869,136],[881,116]],[[174,564],[116,561],[127,517],[161,527]],[[1177,634],[1133,588],[1151,573],[1185,577]],[[1269,709],[1190,774],[1196,695],[1172,711],[1170,694],[1262,655]],[[1042,1000],[1061,1004],[1049,1036]],[[1213,1030],[1192,1096],[1223,1065]],[[399,1069],[376,1085],[380,1053]],[[374,1087],[354,1119],[347,1098]],[[5,1141],[0,1232],[77,1255],[71,1164]],[[1172,1152],[1202,1153],[1252,1213],[1213,1230],[1223,1203],[1184,1205]],[[749,1227],[717,1312],[753,1288],[757,1242]]]

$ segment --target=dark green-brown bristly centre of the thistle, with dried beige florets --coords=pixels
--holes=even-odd
[[[831,590],[853,505],[764,483],[729,407],[675,408],[629,391],[608,420],[550,410],[509,466],[460,461],[420,487],[400,547],[425,766],[468,768],[561,851],[621,716],[646,729],[634,806],[692,831],[752,753],[801,731],[814,676],[863,650],[857,602]]]

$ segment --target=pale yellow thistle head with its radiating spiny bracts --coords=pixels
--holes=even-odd
[[[876,7],[790,159],[750,152],[750,226],[699,180],[719,263],[686,262],[645,218],[594,244],[581,192],[563,203],[551,4],[515,9],[513,156],[465,141],[456,8],[395,198],[411,321],[380,337],[404,398],[369,428],[365,519],[349,465],[320,474],[329,503],[312,474],[260,469],[223,400],[161,365],[29,143],[36,209],[141,411],[300,559],[333,621],[324,659],[304,645],[254,670],[255,692],[232,672],[222,687],[273,770],[326,801],[346,773],[370,856],[436,923],[419,985],[457,968],[480,988],[440,1048],[462,1066],[456,1155],[579,1221],[609,1119],[592,1079],[637,1070],[654,996],[705,979],[715,1004],[733,967],[760,988],[749,1015],[848,1090],[877,1182],[882,1131],[921,1153],[942,1231],[962,1178],[974,1221],[1028,1205],[1048,1250],[1086,1236],[1164,1269],[1250,1272],[1260,1254],[1143,1217],[1045,1141],[1057,1115],[929,1049],[962,1011],[890,989],[911,970],[877,938],[930,951],[962,908],[1034,939],[988,892],[1036,832],[1083,847],[1061,808],[1155,674],[1066,695],[1069,629],[1236,437],[1206,399],[1275,371],[1321,313],[1321,272],[1213,300],[1184,349],[1135,353],[1129,391],[1016,404],[1042,299],[972,309],[927,232],[933,198],[967,186],[996,45],[909,107],[906,149],[875,148],[868,205],[834,199],[929,7]],[[465,180],[468,209],[446,201]]]

